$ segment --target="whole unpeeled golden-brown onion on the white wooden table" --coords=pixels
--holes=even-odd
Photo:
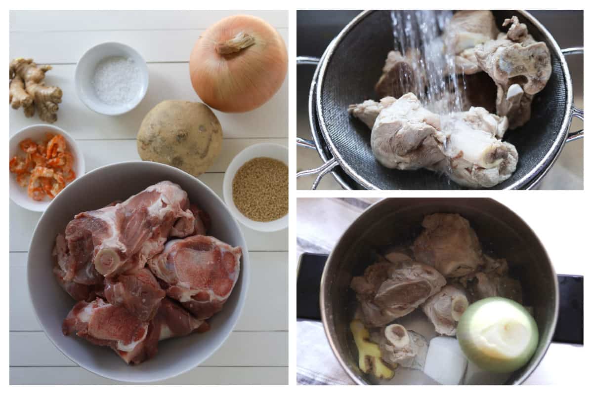
[[[240,34],[243,40],[237,40]],[[232,39],[246,43],[245,47],[232,49]],[[288,71],[288,53],[278,31],[266,21],[235,15],[200,36],[189,70],[193,89],[203,102],[225,113],[244,113],[278,91]]]

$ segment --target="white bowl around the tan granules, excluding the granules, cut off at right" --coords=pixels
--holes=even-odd
[[[282,230],[288,226],[288,214],[269,222],[254,221],[241,214],[241,211],[239,211],[235,202],[232,200],[232,180],[235,178],[237,171],[249,160],[262,157],[280,160],[280,162],[288,166],[288,148],[272,143],[254,144],[238,153],[231,160],[231,164],[228,165],[227,172],[225,172],[224,180],[222,181],[222,194],[232,215],[245,226],[259,230],[260,232],[276,232],[276,230]]]

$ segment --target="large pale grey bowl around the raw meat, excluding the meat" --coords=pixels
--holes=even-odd
[[[95,346],[78,336],[64,336],[62,322],[76,303],[52,273],[56,235],[82,211],[125,200],[149,185],[169,180],[180,185],[192,203],[212,218],[209,233],[243,249],[237,284],[221,312],[208,320],[210,330],[158,343],[158,354],[141,365],[126,365],[109,347]],[[148,383],[189,371],[209,358],[228,338],[247,299],[249,251],[241,227],[227,205],[206,184],[177,168],[156,162],[120,162],[88,172],[62,191],[39,219],[27,257],[31,304],[40,326],[66,357],[94,374],[112,380]],[[237,349],[241,352],[241,348]],[[196,378],[197,380],[197,378]],[[196,383],[199,384],[199,383]]]

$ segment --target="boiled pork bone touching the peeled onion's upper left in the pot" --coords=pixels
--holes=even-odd
[[[435,326],[436,333],[455,336],[457,322],[468,306],[466,291],[461,287],[445,285],[424,302],[422,311]]]

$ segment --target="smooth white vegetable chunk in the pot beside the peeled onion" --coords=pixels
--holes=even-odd
[[[439,384],[460,384],[467,368],[467,359],[455,338],[437,336],[428,346],[424,373]]]

